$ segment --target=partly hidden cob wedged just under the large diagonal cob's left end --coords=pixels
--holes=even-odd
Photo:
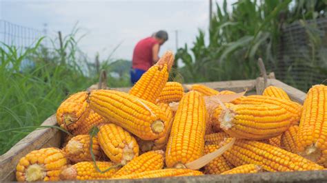
[[[89,109],[90,112],[88,113],[88,116],[83,120],[83,122],[79,123],[79,126],[72,130],[72,134],[77,135],[86,135],[90,132],[90,129],[92,127],[95,127],[101,123],[108,123],[108,120],[102,118],[99,114],[97,114],[92,109]]]

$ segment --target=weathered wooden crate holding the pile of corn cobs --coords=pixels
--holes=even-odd
[[[263,79],[257,80],[232,80],[222,82],[201,83],[217,90],[228,89],[234,92],[248,90],[248,94],[262,91]],[[283,88],[293,101],[303,103],[306,97],[304,92],[290,87],[276,79],[268,79],[268,85]],[[130,88],[116,88],[119,91],[128,92]],[[42,125],[57,125],[55,115],[50,116]],[[34,149],[44,147],[60,147],[63,133],[58,129],[39,129],[32,131],[0,157],[0,180],[14,181],[14,170],[21,157]],[[327,171],[304,171],[304,172],[279,172],[279,173],[256,173],[237,175],[204,175],[201,177],[171,177],[156,179],[155,182],[321,182],[327,181]],[[128,181],[128,180],[126,180]],[[146,180],[130,180],[132,182],[145,182]]]

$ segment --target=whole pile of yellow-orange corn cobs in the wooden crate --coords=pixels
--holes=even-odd
[[[135,179],[327,167],[325,85],[313,86],[303,107],[273,86],[262,96],[241,96],[212,107],[206,103],[208,96],[236,94],[204,85],[188,85],[184,92],[181,83],[167,82],[173,60],[172,52],[166,52],[129,93],[99,89],[63,101],[57,122],[72,136],[62,149],[39,149],[21,158],[17,180]],[[177,110],[170,108],[171,103],[178,103]],[[90,135],[95,127],[98,132]]]

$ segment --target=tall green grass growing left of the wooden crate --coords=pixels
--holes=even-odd
[[[52,41],[50,49],[43,47],[42,41],[27,50],[8,45],[0,47],[0,154],[54,114],[69,94],[85,90],[98,81],[95,67],[85,58],[78,59],[80,54],[74,35],[64,39],[63,61],[56,41]],[[32,65],[22,68],[24,60]],[[110,61],[104,61],[100,69],[112,69],[110,65]],[[126,72],[121,74],[123,78],[108,76],[110,87],[129,85]]]

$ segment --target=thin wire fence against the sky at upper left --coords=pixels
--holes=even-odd
[[[0,46],[14,45],[17,48],[26,49],[32,46],[44,36],[45,32],[34,28],[27,28],[21,25],[0,20]]]

